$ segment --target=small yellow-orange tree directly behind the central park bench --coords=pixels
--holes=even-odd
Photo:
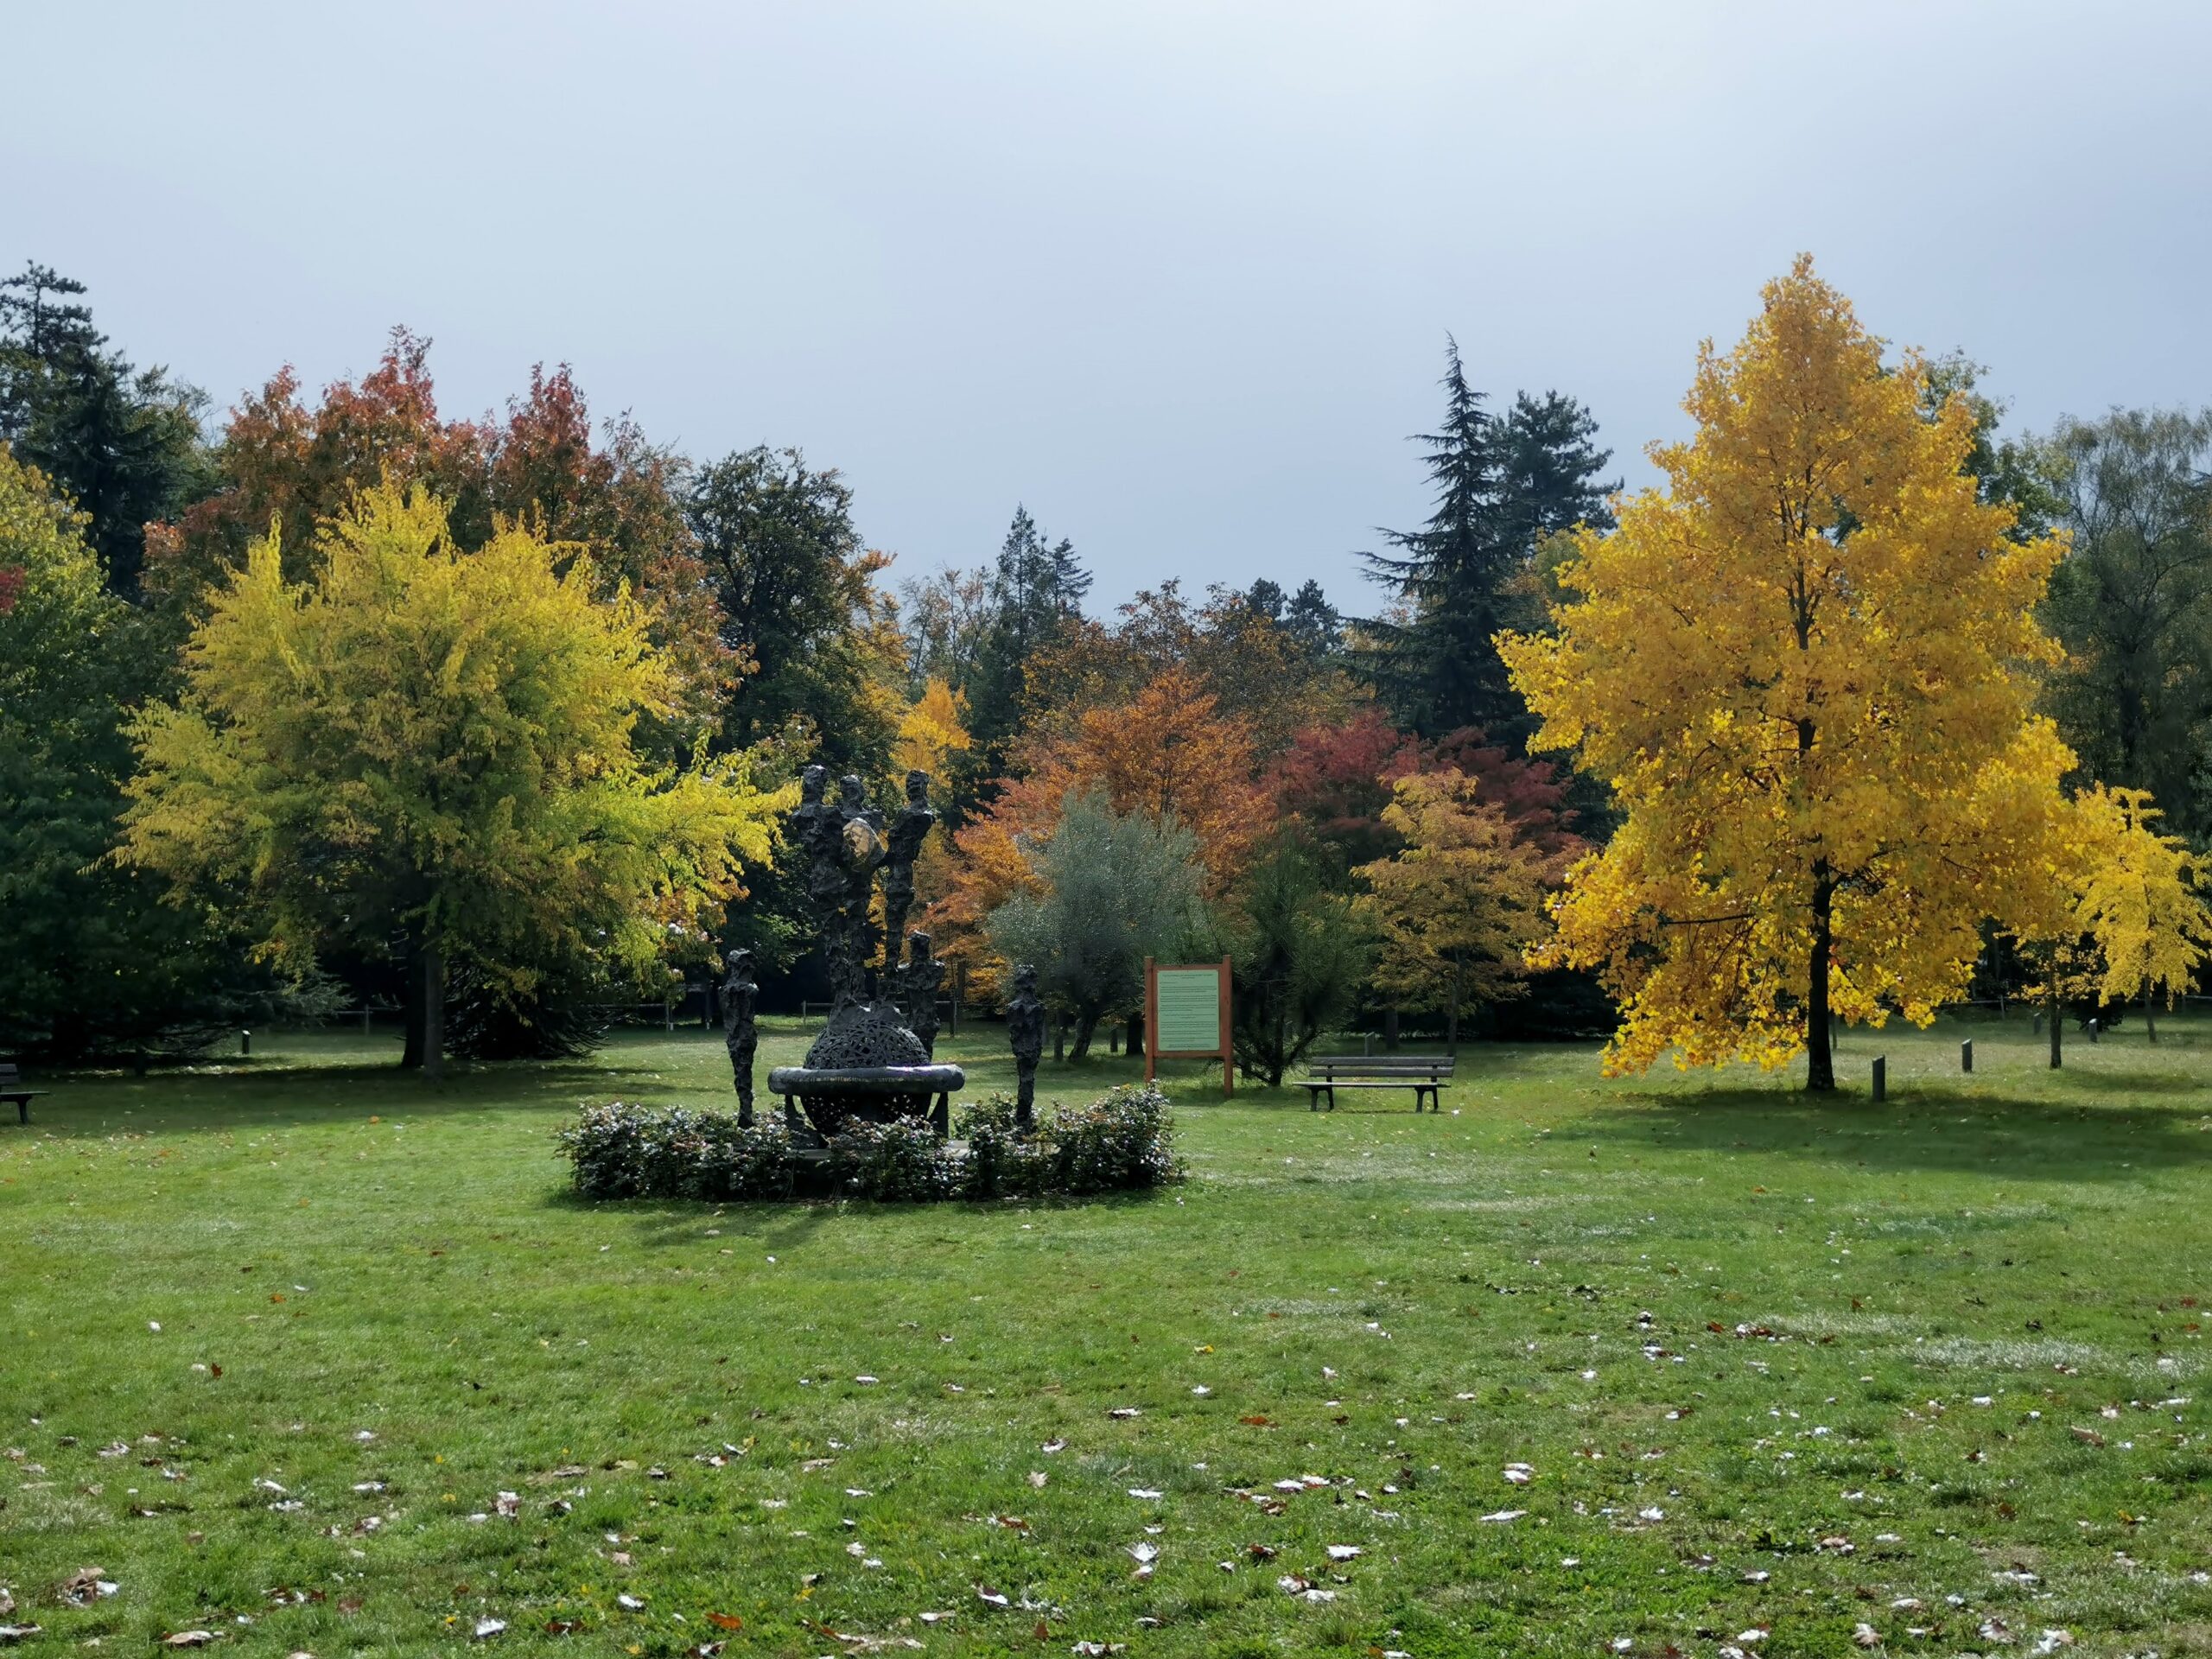
[[[1460,772],[1398,779],[1383,823],[1405,841],[1358,867],[1358,907],[1376,929],[1376,987],[1400,1006],[1440,1011],[1444,1046],[1460,1015],[1524,989],[1522,953],[1544,933],[1544,854],[1480,801]]]

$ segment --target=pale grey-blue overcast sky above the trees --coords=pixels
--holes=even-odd
[[[692,456],[801,445],[900,575],[1018,500],[1119,599],[1425,511],[1447,330],[1630,482],[1807,248],[2017,425],[2212,398],[2212,7],[46,4],[0,263],[228,405],[434,336]]]

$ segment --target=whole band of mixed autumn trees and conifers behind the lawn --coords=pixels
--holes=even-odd
[[[1885,361],[1838,307],[1809,268],[1770,290],[1632,498],[1579,400],[1493,409],[1447,341],[1427,518],[1356,555],[1371,615],[1265,580],[1099,615],[1022,507],[995,557],[898,580],[836,469],[690,460],[593,420],[566,367],[449,418],[405,330],[215,420],[31,265],[0,283],[0,1051],[190,1053],[376,1000],[436,1066],[573,1051],[728,945],[799,984],[776,821],[814,761],[940,781],[927,925],[980,995],[1037,962],[1077,1053],[1144,956],[1230,953],[1270,1079],[1400,1013],[1617,1029],[1648,1064],[1785,1057],[1975,973],[2185,989],[2212,420],[2013,436],[1978,365]],[[1785,323],[1796,380],[1761,345]],[[1747,387],[1887,434],[1785,434],[1825,471],[1781,540]],[[1922,498],[1960,480],[1936,529],[1898,504],[1907,451]],[[1991,770],[2011,816],[1973,796]],[[1854,827],[1900,801],[1920,863]],[[1962,801],[2013,838],[1929,805]],[[2053,803],[2097,856],[2011,916]]]

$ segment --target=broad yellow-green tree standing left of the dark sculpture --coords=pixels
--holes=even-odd
[[[460,960],[653,969],[765,865],[783,794],[750,757],[655,770],[641,717],[679,679],[626,588],[502,524],[462,553],[422,491],[372,489],[283,577],[276,531],[215,591],[175,703],[135,728],[122,856],[223,889],[305,967],[405,940],[409,1060],[436,1075]]]

